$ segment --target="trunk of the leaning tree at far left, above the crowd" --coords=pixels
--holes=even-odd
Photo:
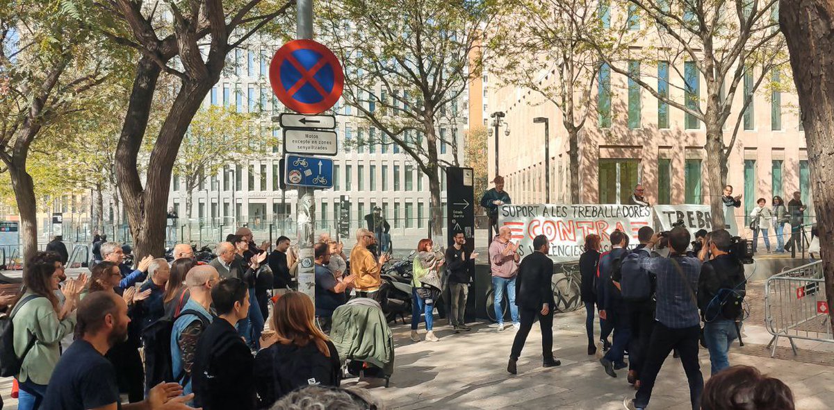
[[[23,263],[38,253],[38,214],[35,203],[35,185],[26,172],[26,158],[14,158],[8,164],[14,197],[20,213],[20,240],[23,243]]]

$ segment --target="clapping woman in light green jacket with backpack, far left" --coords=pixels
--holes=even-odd
[[[4,320],[0,375],[18,379],[21,410],[41,407],[61,355],[61,339],[75,328],[75,306],[84,283],[68,280],[61,306],[55,291],[62,275],[58,253],[35,253],[23,268],[23,289],[12,304],[11,319]]]

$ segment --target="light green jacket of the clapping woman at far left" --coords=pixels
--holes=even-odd
[[[32,294],[24,293],[21,300]],[[18,309],[12,323],[14,353],[18,357],[23,356],[30,338],[34,336],[36,340],[32,350],[23,358],[18,381],[23,383],[32,380],[33,383],[48,384],[61,358],[61,339],[75,329],[75,312],[58,320],[58,313],[55,313],[48,298],[34,298]]]

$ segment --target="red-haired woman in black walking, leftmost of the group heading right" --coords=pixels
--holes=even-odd
[[[599,276],[597,278],[597,303],[600,303],[600,318],[605,319],[605,326],[602,329],[602,337],[607,336],[606,329],[610,333],[614,332],[614,343],[608,352],[600,358],[602,367],[605,368],[605,373],[612,378],[617,377],[615,370],[620,370],[628,366],[623,361],[625,356],[625,349],[628,348],[629,340],[631,340],[628,315],[625,314],[625,306],[623,305],[622,296],[620,296],[620,289],[616,288],[611,281],[611,273],[615,268],[620,266],[622,258],[628,254],[625,249],[628,247],[628,235],[621,231],[614,231],[610,235],[611,250],[603,253],[600,257]]]

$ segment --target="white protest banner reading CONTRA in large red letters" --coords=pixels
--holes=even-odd
[[[579,259],[590,233],[600,235],[604,250],[615,230],[628,234],[633,246],[637,231],[652,222],[651,208],[638,205],[502,205],[498,225],[510,228],[522,257],[533,252],[533,238],[545,235],[550,258],[567,262]]]

